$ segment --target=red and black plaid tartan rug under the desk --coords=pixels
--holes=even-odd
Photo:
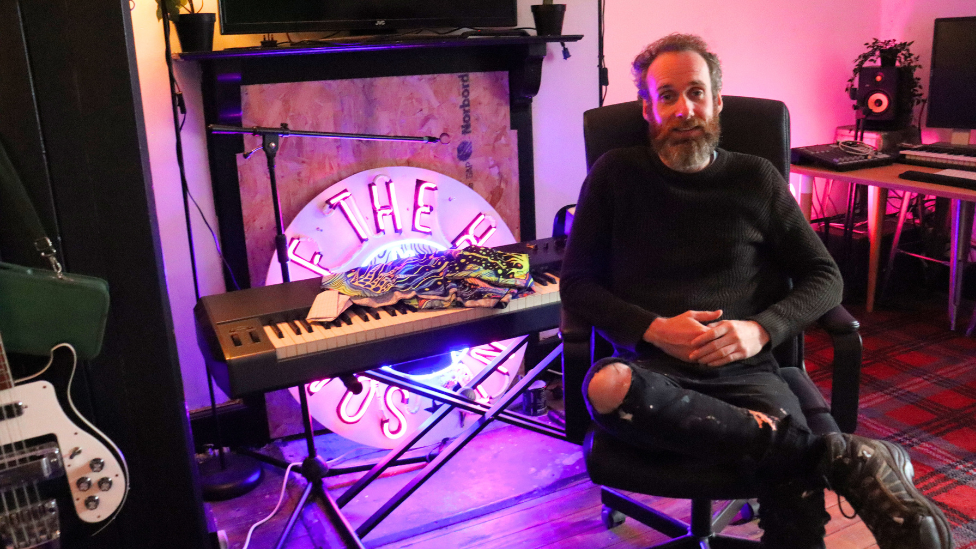
[[[908,450],[915,485],[952,524],[958,549],[976,549],[976,338],[949,330],[945,295],[885,304],[866,313],[860,419],[856,433],[889,440]],[[829,397],[833,352],[825,333],[806,336],[807,369]]]

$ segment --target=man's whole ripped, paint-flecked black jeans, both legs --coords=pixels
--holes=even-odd
[[[818,473],[824,443],[811,433],[775,362],[708,370],[675,368],[667,359],[635,364],[610,357],[590,368],[584,395],[593,375],[613,363],[631,368],[631,386],[607,414],[586,399],[600,427],[647,450],[733,464],[756,486],[764,547],[824,547],[829,515]]]

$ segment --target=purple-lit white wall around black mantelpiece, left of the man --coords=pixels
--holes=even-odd
[[[533,26],[530,3],[519,0],[519,25]],[[535,140],[536,219],[538,235],[551,231],[552,217],[564,204],[575,202],[585,175],[582,142],[582,113],[597,106],[596,0],[565,0],[564,34],[582,34],[580,42],[569,43],[571,57],[563,60],[558,44],[549,46],[543,64],[542,87],[533,102]],[[203,11],[215,11],[216,2],[206,2]],[[177,350],[183,372],[188,409],[209,405],[203,355],[195,336],[193,306],[196,296],[189,261],[183,198],[176,162],[173,115],[166,75],[162,24],[156,20],[156,3],[136,0],[132,10],[139,81],[149,142],[153,188],[163,246],[163,262],[173,311]],[[292,39],[315,37],[292,33]],[[175,32],[174,50],[179,50]],[[283,35],[277,36],[279,40]],[[214,37],[214,48],[256,45],[260,36]],[[200,71],[195,63],[176,62],[177,80],[188,107],[183,129],[183,150],[190,192],[216,228],[206,139],[200,102]],[[524,138],[523,136],[519,136]],[[224,291],[220,260],[210,233],[191,204],[192,231],[196,250],[200,294]],[[218,390],[219,392],[219,390]],[[219,395],[219,401],[226,397]]]

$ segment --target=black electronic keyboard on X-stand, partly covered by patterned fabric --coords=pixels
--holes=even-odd
[[[197,338],[214,380],[238,398],[555,328],[564,246],[565,237],[497,248],[528,254],[535,281],[505,308],[354,305],[332,322],[307,322],[321,292],[314,278],[200,298]]]

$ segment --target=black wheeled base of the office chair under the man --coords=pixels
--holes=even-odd
[[[674,538],[663,544],[655,545],[652,549],[684,547],[696,547],[700,549],[755,549],[760,547],[758,541],[723,536],[717,533],[728,526],[732,519],[735,518],[739,508],[747,500],[733,501],[721,512],[712,516],[711,500],[693,499],[691,500],[691,524],[648,507],[612,488],[604,487],[600,491],[600,500],[604,505],[604,523],[608,528],[623,522],[623,520],[614,520],[613,512],[617,511],[670,538]]]

